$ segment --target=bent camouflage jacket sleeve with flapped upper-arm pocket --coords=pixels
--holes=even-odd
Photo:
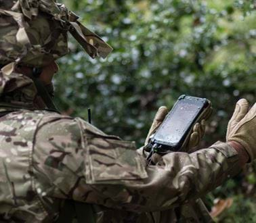
[[[47,196],[135,212],[187,203],[240,171],[236,150],[221,142],[146,166],[135,143],[68,118],[50,118],[39,128],[33,159]]]

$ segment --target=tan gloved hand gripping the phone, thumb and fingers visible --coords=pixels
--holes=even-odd
[[[200,140],[205,134],[205,120],[211,116],[212,108],[211,105],[209,106],[209,109],[205,111],[205,114],[203,114],[203,119],[200,121],[200,123],[196,123],[194,125],[194,128],[192,130],[192,133],[190,134],[190,139],[188,141],[188,145],[186,146],[186,151],[190,151],[192,147],[195,147],[200,143]],[[168,114],[168,109],[165,106],[159,107],[158,111],[156,112],[156,115],[154,116],[153,123],[151,125],[151,128],[148,132],[148,136],[146,137],[146,141],[144,145],[148,145],[150,136],[156,132],[157,128],[161,125],[163,120],[165,119],[165,116]]]

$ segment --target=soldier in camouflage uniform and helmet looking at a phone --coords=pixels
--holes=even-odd
[[[1,222],[212,222],[199,198],[255,159],[256,104],[238,101],[226,143],[147,166],[135,143],[54,111],[51,78],[67,32],[91,57],[111,47],[54,0],[0,1],[0,14]],[[166,114],[158,110],[149,135]]]

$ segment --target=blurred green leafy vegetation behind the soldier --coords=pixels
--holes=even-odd
[[[140,147],[159,106],[171,108],[182,94],[207,97],[214,112],[206,147],[225,141],[238,99],[255,102],[255,0],[62,2],[114,48],[105,60],[90,59],[70,42],[55,80],[64,114],[87,119],[90,107],[95,126]],[[256,222],[255,170],[247,166],[207,196],[217,221]]]

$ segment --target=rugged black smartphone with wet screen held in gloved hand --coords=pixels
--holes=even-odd
[[[204,118],[210,106],[208,99],[181,95],[150,138],[146,150],[156,153],[183,151],[194,124]]]

